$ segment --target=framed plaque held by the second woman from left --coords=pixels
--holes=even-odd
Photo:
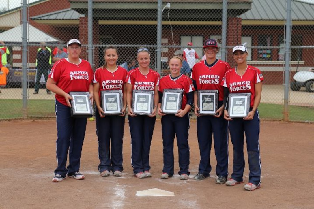
[[[122,114],[122,90],[106,90],[100,92],[103,115]]]

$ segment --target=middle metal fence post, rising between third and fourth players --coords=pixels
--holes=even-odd
[[[156,70],[161,76],[161,19],[162,19],[162,0],[158,0],[157,9],[157,58],[156,58]]]

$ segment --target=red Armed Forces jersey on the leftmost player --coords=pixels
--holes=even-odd
[[[93,70],[86,60],[74,64],[65,58],[53,65],[48,78],[52,78],[57,86],[66,93],[71,91],[88,92],[89,84],[93,81]],[[56,99],[63,105],[67,105],[63,96],[56,94]]]

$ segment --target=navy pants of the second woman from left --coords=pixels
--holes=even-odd
[[[122,171],[122,144],[125,116],[106,115],[101,118],[98,111],[96,117],[96,134],[98,137],[98,165],[99,172],[104,170],[114,173],[116,170]],[[110,150],[111,142],[111,150]]]

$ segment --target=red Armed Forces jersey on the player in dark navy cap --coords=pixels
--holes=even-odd
[[[191,77],[196,81],[197,90],[218,90],[219,101],[223,101],[224,87],[220,83],[230,69],[230,65],[222,60],[218,60],[212,67],[208,67],[205,61],[202,61],[194,65]]]

